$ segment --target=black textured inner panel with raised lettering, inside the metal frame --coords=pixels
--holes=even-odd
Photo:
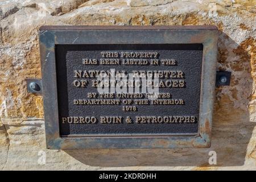
[[[198,133],[202,44],[57,45],[55,52],[61,136],[195,136]],[[116,53],[117,56],[103,57],[102,52]],[[131,53],[129,59],[121,57],[124,52]],[[145,55],[138,55],[140,52],[156,52],[157,56],[144,57]],[[138,57],[131,58],[133,53],[137,53]],[[129,63],[129,60],[142,59],[145,63]],[[88,62],[85,63],[85,60]],[[92,60],[97,61],[93,64]],[[111,60],[113,63],[110,63]],[[110,69],[126,73],[158,72],[158,98],[151,100],[147,93],[139,94],[138,98],[137,93],[129,93],[129,90],[127,94],[115,90],[112,97],[105,98],[93,85],[97,75],[92,76],[90,72],[108,72]],[[86,86],[79,86],[82,80],[86,81]],[[96,93],[96,97],[88,97],[92,93]],[[81,100],[86,103],[75,103]],[[117,102],[92,103],[106,100]],[[127,100],[131,104],[124,104]],[[126,107],[131,110],[126,111]],[[92,123],[88,119],[86,122],[83,120],[86,117],[96,118],[97,121]],[[117,117],[121,118],[121,122],[115,122]],[[133,122],[126,122],[127,117]],[[75,121],[76,118],[78,119]],[[106,122],[102,118],[106,118]],[[144,118],[145,121],[142,120]]]

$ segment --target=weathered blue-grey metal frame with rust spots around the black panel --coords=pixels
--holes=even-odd
[[[210,147],[217,63],[215,26],[42,26],[40,27],[46,143],[49,149]],[[60,137],[56,44],[203,44],[197,136]]]

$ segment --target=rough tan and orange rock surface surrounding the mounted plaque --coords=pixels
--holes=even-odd
[[[0,0],[0,169],[256,169],[255,5],[255,0]],[[232,72],[230,86],[216,89],[211,148],[46,150],[42,97],[26,90],[26,78],[41,77],[40,26],[204,24],[220,30],[218,69]],[[209,151],[216,151],[216,165],[209,165]]]

